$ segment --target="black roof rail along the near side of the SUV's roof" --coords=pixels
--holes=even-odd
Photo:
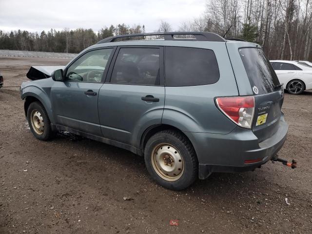
[[[127,34],[109,37],[98,41],[97,44],[113,42],[119,38],[132,38],[132,37],[145,37],[145,36],[164,36],[165,40],[190,40],[188,38],[175,38],[175,35],[193,35],[195,40],[201,41],[222,41],[226,40],[215,33],[209,32],[163,32],[163,33],[139,33],[139,34]],[[191,38],[192,39],[192,38]]]

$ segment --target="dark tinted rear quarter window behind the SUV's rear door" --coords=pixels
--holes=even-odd
[[[166,86],[213,84],[219,79],[219,67],[212,50],[166,47]]]

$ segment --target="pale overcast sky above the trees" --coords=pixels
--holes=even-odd
[[[0,0],[0,30],[42,31],[65,27],[92,28],[118,23],[144,24],[146,32],[158,29],[160,20],[174,30],[205,10],[206,0]]]

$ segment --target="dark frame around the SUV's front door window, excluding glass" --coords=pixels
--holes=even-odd
[[[63,70],[63,74],[64,76],[66,77],[66,74],[67,74],[67,70],[68,68],[74,63],[76,62],[79,58],[81,58],[82,56],[84,56],[85,54],[91,52],[91,51],[95,51],[95,50],[105,50],[105,49],[113,49],[112,50],[112,53],[110,54],[109,56],[109,59],[107,60],[107,63],[106,63],[106,66],[105,66],[105,70],[103,72],[103,75],[102,75],[102,78],[101,78],[101,81],[100,82],[84,82],[84,81],[79,81],[79,80],[64,80],[64,82],[79,82],[79,83],[93,83],[93,84],[102,84],[104,83],[105,81],[105,78],[107,76],[107,72],[109,70],[109,67],[111,65],[111,62],[112,62],[112,59],[113,59],[113,56],[116,52],[116,46],[107,46],[107,47],[98,47],[98,48],[93,48],[93,49],[90,49],[90,50],[87,50],[85,51],[83,54],[79,55],[78,57],[76,57],[75,59],[73,59]]]

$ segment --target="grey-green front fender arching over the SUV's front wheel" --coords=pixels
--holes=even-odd
[[[25,99],[27,97],[37,98],[44,106],[44,109],[46,110],[51,123],[55,123],[52,114],[52,105],[50,98],[43,90],[39,89],[37,86],[26,86],[21,90],[20,97],[21,99]]]

